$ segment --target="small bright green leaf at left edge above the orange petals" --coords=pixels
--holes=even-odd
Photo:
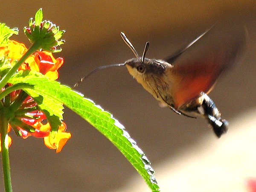
[[[19,30],[10,29],[5,23],[0,23],[0,45],[6,45],[13,34],[18,35]]]

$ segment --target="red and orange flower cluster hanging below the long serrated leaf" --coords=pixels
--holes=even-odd
[[[14,93],[14,92],[12,92]],[[13,98],[17,99],[19,97],[20,92],[12,94]],[[11,100],[15,100],[12,99]],[[67,143],[67,140],[70,139],[71,134],[66,133],[66,124],[64,122],[59,126],[58,131],[52,131],[52,128],[47,122],[47,124],[43,124],[47,117],[45,114],[38,110],[37,103],[31,96],[28,96],[19,107],[19,110],[26,110],[29,108],[34,109],[35,111],[29,111],[24,113],[24,115],[15,116],[12,120],[12,128],[15,130],[15,133],[18,132],[17,135],[22,137],[23,139],[28,138],[29,136],[44,138],[44,144],[50,148],[55,149],[56,152],[60,152],[64,145]]]

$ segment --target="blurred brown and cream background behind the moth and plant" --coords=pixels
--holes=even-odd
[[[204,32],[216,20],[236,16],[248,29],[246,55],[219,79],[210,94],[229,120],[217,139],[204,119],[178,116],[158,103],[131,78],[125,67],[103,70],[78,90],[125,125],[146,153],[162,191],[245,192],[256,177],[256,2],[254,0],[184,1],[1,1],[0,22],[18,27],[14,37],[29,42],[23,26],[36,10],[65,29],[60,79],[72,86],[95,67],[133,57],[120,38],[126,33],[141,54],[166,58]],[[150,191],[125,157],[95,128],[66,109],[72,138],[61,153],[41,139],[15,137],[10,148],[14,191]],[[0,179],[0,186],[3,181]],[[1,189],[0,189],[1,190]]]

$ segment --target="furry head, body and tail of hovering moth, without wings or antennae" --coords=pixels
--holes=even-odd
[[[228,122],[221,119],[221,113],[212,99],[201,92],[198,97],[175,108],[173,89],[175,82],[180,82],[174,67],[166,61],[145,58],[133,58],[125,62],[128,72],[140,83],[162,106],[168,106],[178,114],[200,116],[208,120],[213,131],[220,137],[227,132]]]

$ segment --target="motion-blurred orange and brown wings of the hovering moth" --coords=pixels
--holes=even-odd
[[[175,74],[172,87],[175,108],[209,93],[221,73],[232,66],[244,50],[246,30],[238,25],[215,26],[186,49],[167,73]],[[172,73],[172,74],[171,74]]]

